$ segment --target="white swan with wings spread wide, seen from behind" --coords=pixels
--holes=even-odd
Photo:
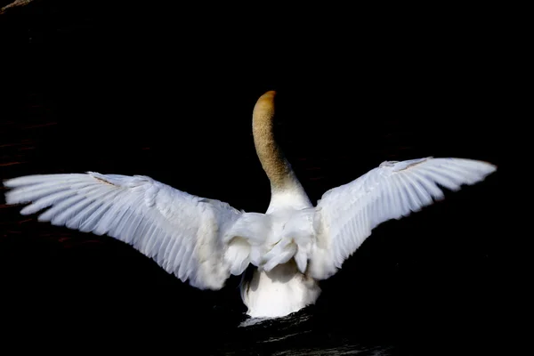
[[[6,203],[25,205],[24,215],[47,208],[40,222],[119,239],[192,287],[217,290],[242,275],[247,315],[279,318],[315,303],[320,280],[334,275],[377,225],[430,206],[443,198],[441,187],[459,190],[497,169],[465,158],[385,161],[313,206],[274,139],[275,96],[264,93],[252,115],[255,150],[271,182],[264,214],[148,176],[96,172],[5,180]]]

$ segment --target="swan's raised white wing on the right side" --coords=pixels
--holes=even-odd
[[[384,162],[348,184],[328,190],[317,205],[310,273],[327,279],[380,223],[401,219],[443,197],[440,186],[459,190],[481,182],[496,166],[463,158]]]

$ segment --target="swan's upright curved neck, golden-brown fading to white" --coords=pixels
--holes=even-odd
[[[274,95],[274,92],[264,93],[256,102],[252,117],[255,150],[271,181],[271,203],[292,200],[299,207],[311,206],[303,186],[274,139]]]

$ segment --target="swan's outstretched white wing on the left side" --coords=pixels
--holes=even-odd
[[[219,289],[251,262],[268,229],[263,214],[176,190],[150,177],[117,174],[44,174],[13,178],[7,204],[20,214],[78,231],[107,234],[153,258],[198,288]]]

